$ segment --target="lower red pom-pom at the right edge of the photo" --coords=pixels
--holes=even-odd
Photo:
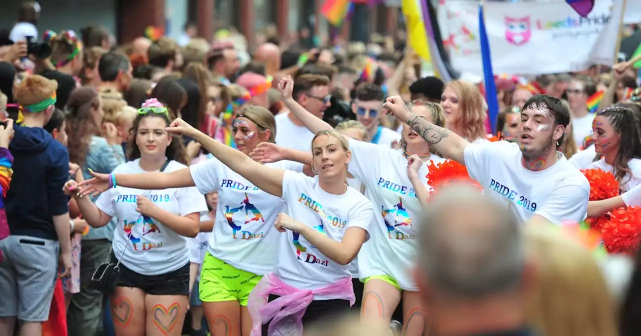
[[[610,212],[601,223],[603,244],[610,253],[635,255],[641,237],[641,207],[620,208]]]

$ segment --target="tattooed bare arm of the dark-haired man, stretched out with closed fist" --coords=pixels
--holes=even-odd
[[[401,122],[412,127],[412,129],[417,132],[421,138],[428,141],[429,145],[434,147],[437,152],[443,154],[448,159],[453,159],[460,164],[465,164],[463,151],[465,147],[470,144],[469,141],[448,129],[434,125],[424,118],[415,115],[405,106],[403,99],[399,96],[389,97],[383,106],[387,108],[392,115],[401,120]]]

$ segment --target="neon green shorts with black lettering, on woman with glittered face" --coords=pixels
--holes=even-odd
[[[237,269],[207,252],[198,283],[198,296],[203,302],[238,301],[247,307],[249,293],[262,278],[262,275]]]

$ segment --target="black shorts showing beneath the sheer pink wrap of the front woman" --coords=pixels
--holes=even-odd
[[[269,294],[267,302],[274,301],[278,299],[278,295]],[[348,300],[314,300],[305,310],[303,315],[303,330],[308,326],[315,325],[317,323],[322,323],[323,321],[328,321],[328,323],[335,322],[336,316],[347,316],[350,312],[349,301]],[[269,323],[263,324],[262,335],[267,335],[267,328],[269,328]]]

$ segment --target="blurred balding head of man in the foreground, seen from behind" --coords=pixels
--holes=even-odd
[[[504,203],[469,184],[454,183],[429,200],[419,239],[419,271],[435,297],[479,300],[522,284],[519,221]]]

